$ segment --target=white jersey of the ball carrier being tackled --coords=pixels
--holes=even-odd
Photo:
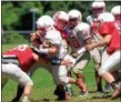
[[[49,40],[51,44],[58,47],[58,53],[56,58],[63,59],[64,55],[67,54],[67,51],[62,44],[61,33],[58,30],[50,30],[47,32],[44,39]]]

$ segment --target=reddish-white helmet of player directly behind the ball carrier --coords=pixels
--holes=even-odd
[[[53,14],[54,26],[60,31],[65,30],[69,23],[69,17],[64,11],[58,11]]]

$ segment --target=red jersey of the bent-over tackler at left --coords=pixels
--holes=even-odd
[[[3,55],[16,55],[20,62],[21,69],[28,72],[34,63],[33,52],[27,44],[18,45],[12,50],[3,53]]]

